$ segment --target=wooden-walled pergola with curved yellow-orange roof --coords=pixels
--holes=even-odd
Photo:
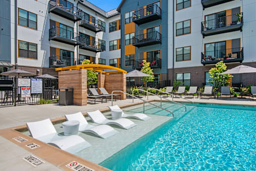
[[[126,71],[114,66],[102,64],[81,64],[56,68],[59,71],[59,89],[72,88],[74,105],[87,105],[87,70],[99,72],[99,88],[105,88],[111,94],[112,91],[120,90],[126,92]],[[118,93],[115,93],[118,94]],[[119,93],[121,99],[126,95]]]

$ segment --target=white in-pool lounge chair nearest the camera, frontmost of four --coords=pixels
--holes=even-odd
[[[76,153],[91,146],[91,144],[78,135],[59,135],[50,119],[37,122],[27,122],[27,127],[33,138],[70,153]]]

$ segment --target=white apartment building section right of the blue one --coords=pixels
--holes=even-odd
[[[169,3],[168,78],[202,86],[209,84],[208,71],[220,60],[228,68],[240,63],[255,67],[255,7],[255,1],[240,0]],[[173,24],[174,29],[170,27]],[[238,82],[240,76],[234,74],[232,83]],[[246,74],[243,82],[256,84],[256,78]]]

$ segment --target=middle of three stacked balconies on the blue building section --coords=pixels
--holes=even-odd
[[[157,31],[133,37],[133,46],[136,46],[138,48],[155,44],[161,44],[161,33]]]

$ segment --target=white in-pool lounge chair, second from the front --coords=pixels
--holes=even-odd
[[[65,115],[65,118],[68,121],[72,121],[72,120],[79,121],[80,132],[90,132],[103,139],[118,133],[118,131],[114,130],[111,126],[108,126],[108,125],[97,125],[97,126],[89,125],[81,112]]]

